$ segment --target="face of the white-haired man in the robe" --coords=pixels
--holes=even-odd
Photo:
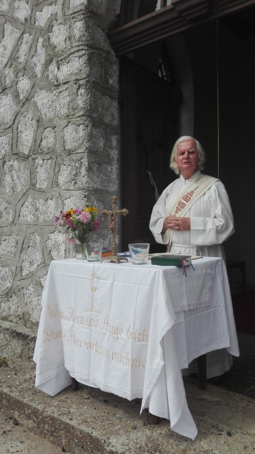
[[[188,178],[197,172],[199,155],[193,139],[183,140],[177,145],[175,162],[182,175],[188,175]]]

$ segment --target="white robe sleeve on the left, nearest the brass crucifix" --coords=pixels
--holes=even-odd
[[[168,229],[165,233],[161,233],[164,219],[166,217],[166,189],[154,205],[150,217],[149,228],[157,243],[167,244],[169,239]]]

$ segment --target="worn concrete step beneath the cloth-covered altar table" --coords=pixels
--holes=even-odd
[[[172,432],[166,420],[151,425],[146,411],[140,415],[140,399],[130,402],[83,385],[77,392],[69,387],[50,397],[35,389],[34,382],[35,365],[31,361],[0,368],[2,415],[62,452],[236,454],[245,451],[252,454],[255,451],[255,399],[213,385],[201,391],[197,381],[185,379],[188,405],[198,428],[196,440],[191,441]]]

